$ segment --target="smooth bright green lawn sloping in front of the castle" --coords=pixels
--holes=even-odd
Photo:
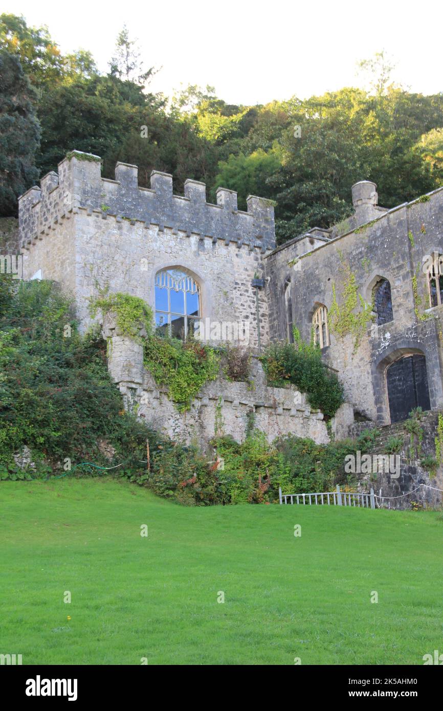
[[[437,513],[182,508],[104,479],[4,482],[0,506],[0,653],[23,664],[422,664],[442,649]]]

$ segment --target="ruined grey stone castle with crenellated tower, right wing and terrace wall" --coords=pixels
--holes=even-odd
[[[151,188],[140,188],[137,166],[118,163],[115,180],[100,168],[98,156],[73,151],[21,196],[25,279],[59,282],[83,328],[88,300],[106,286],[142,297],[156,325],[176,335],[196,319],[247,324],[255,353],[292,340],[297,326],[319,343],[346,397],[326,427],[294,387],[267,387],[255,358],[254,390],[219,379],[181,415],[144,370],[139,344],[104,324],[112,377],[153,424],[210,439],[221,408],[227,433],[242,439],[253,410],[269,439],[293,432],[328,442],[346,437],[354,419],[383,425],[414,407],[443,409],[443,188],[388,210],[375,183],[361,181],[348,220],[276,247],[265,199],[250,196],[244,212],[225,188],[212,205],[197,181],[176,196],[166,173],[153,171]]]

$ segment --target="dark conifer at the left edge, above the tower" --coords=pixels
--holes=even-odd
[[[40,127],[36,93],[17,57],[0,51],[0,214],[16,215],[17,198],[38,179]]]

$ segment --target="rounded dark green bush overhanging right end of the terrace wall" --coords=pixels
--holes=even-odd
[[[322,362],[320,348],[301,341],[297,329],[294,338],[294,343],[272,343],[260,358],[268,383],[274,387],[292,383],[306,392],[314,410],[333,417],[343,402],[343,387]]]

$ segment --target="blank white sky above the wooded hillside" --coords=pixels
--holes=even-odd
[[[182,83],[213,85],[232,103],[308,97],[361,85],[356,62],[383,49],[402,85],[443,91],[441,1],[3,0],[1,11],[47,25],[63,53],[90,50],[102,71],[126,23],[144,66],[163,67],[150,89],[166,95]]]

